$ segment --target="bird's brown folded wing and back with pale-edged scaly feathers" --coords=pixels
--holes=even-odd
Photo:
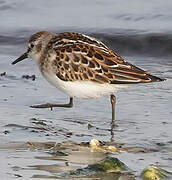
[[[91,80],[109,84],[161,81],[126,62],[94,38],[61,33],[54,41],[56,75],[64,81]]]

